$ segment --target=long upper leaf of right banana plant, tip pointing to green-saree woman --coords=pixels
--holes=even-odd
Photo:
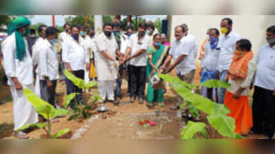
[[[175,91],[177,91],[177,94],[183,97],[184,100],[191,102],[197,109],[208,113],[208,115],[214,115],[214,102],[199,94],[193,94],[192,91],[186,88],[186,82],[181,81],[179,78],[164,74],[159,74],[158,76],[163,78],[165,81],[170,82]]]

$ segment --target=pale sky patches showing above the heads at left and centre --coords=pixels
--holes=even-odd
[[[56,25],[64,25],[65,18],[67,18],[70,15],[56,15],[55,16],[55,22]],[[122,19],[124,19],[126,16],[122,16]],[[165,19],[166,15],[144,15],[142,18],[146,20],[155,21],[157,18],[159,19]],[[32,24],[36,23],[45,23],[46,25],[52,25],[52,15],[34,15],[30,18],[32,21]]]

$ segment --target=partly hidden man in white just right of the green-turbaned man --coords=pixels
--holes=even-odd
[[[35,94],[36,96],[41,97],[41,90],[40,90],[40,82],[39,82],[39,70],[37,69],[39,64],[39,47],[44,44],[46,39],[46,29],[47,25],[40,25],[38,32],[39,32],[39,39],[36,40],[34,46],[32,46],[32,61],[34,63],[34,70],[36,72],[36,82],[35,82]]]

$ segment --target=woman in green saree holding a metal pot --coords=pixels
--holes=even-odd
[[[147,107],[154,107],[159,104],[160,107],[164,106],[164,89],[154,89],[151,85],[151,78],[156,74],[161,73],[160,67],[168,54],[169,47],[162,45],[160,34],[153,36],[153,43],[148,48],[148,61],[146,68],[146,75],[148,76],[148,89],[147,89]]]

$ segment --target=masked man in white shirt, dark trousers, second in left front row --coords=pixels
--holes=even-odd
[[[49,27],[46,30],[46,39],[39,47],[39,79],[41,89],[41,99],[49,102],[56,108],[55,92],[58,74],[58,56],[55,43],[58,38],[58,30]]]

